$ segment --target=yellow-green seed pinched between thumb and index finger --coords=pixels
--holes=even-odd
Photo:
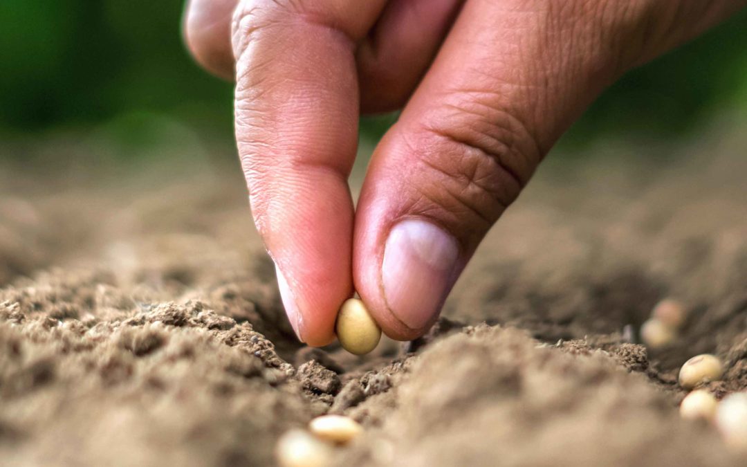
[[[342,304],[335,331],[342,347],[356,355],[371,352],[381,338],[381,328],[357,298],[350,298]]]

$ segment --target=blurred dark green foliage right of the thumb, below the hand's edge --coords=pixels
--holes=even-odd
[[[613,84],[565,137],[674,137],[707,117],[747,110],[747,10]]]

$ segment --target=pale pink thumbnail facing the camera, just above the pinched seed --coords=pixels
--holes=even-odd
[[[403,220],[389,232],[382,282],[389,309],[407,327],[420,330],[443,303],[451,286],[459,247],[433,223]]]

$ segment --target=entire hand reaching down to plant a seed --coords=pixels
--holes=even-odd
[[[291,324],[323,345],[353,285],[386,334],[424,333],[592,100],[745,4],[192,0],[185,33],[197,61],[236,78],[255,223]],[[402,107],[354,216],[359,113]]]

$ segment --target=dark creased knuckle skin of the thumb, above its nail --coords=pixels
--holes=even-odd
[[[426,126],[417,150],[423,170],[439,183],[419,187],[419,194],[457,221],[469,217],[489,227],[526,185],[539,149],[518,119],[481,104],[454,106],[438,121],[447,123]]]

